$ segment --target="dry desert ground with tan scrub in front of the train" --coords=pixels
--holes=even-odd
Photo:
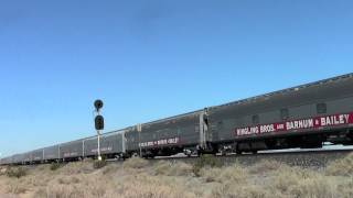
[[[104,166],[104,167],[101,167]],[[2,167],[4,198],[350,198],[353,154],[323,168],[292,167],[261,161],[246,167],[216,158],[125,163],[93,161],[66,165]]]

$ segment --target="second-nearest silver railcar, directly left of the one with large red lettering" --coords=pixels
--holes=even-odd
[[[203,110],[131,127],[126,132],[127,152],[146,157],[190,155],[206,143]]]

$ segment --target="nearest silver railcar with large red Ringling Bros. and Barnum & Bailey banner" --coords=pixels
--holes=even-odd
[[[352,74],[208,108],[214,146],[237,153],[352,144]]]

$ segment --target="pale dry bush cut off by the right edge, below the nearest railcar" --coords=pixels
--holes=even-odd
[[[327,175],[353,176],[353,153],[328,165]]]

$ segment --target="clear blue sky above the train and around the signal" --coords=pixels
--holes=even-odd
[[[1,1],[0,153],[353,69],[353,2]]]

